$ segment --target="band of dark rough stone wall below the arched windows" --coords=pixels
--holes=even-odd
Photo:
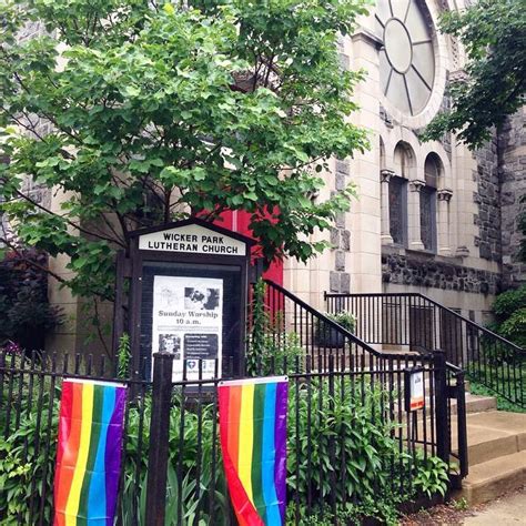
[[[479,294],[497,294],[502,287],[497,273],[443,262],[424,254],[382,254],[382,281]]]

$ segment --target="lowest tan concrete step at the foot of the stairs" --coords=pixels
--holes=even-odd
[[[526,484],[526,451],[498,456],[469,466],[469,475],[454,498],[465,498],[469,505],[492,500]]]

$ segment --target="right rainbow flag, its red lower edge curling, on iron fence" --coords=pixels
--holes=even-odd
[[[285,524],[287,378],[220,382],[220,434],[241,526]]]

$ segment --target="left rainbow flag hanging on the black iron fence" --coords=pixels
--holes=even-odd
[[[113,526],[127,388],[64,380],[54,472],[54,526]]]

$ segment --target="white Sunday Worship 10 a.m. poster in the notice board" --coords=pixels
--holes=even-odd
[[[173,353],[173,381],[212,378],[221,371],[223,280],[156,275],[153,280],[152,353]]]

